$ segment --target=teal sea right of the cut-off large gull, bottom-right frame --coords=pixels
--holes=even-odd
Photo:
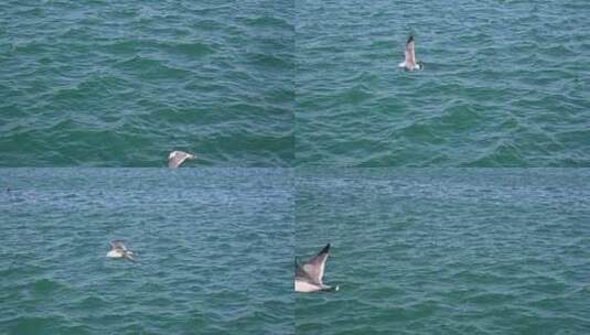
[[[297,334],[588,334],[590,170],[297,175],[296,250],[332,244]]]

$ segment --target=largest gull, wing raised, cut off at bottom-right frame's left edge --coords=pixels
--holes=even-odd
[[[296,292],[337,291],[340,289],[337,285],[329,287],[322,282],[329,250],[330,244],[303,264],[298,263],[296,258]]]

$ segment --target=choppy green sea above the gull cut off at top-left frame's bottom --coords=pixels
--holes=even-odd
[[[0,166],[293,161],[293,2],[2,1]]]

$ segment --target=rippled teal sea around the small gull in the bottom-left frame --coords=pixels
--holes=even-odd
[[[292,334],[291,181],[0,169],[0,334]],[[114,239],[139,263],[107,259]]]

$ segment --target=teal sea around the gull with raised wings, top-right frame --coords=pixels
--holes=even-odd
[[[297,164],[590,166],[590,1],[296,7]]]

